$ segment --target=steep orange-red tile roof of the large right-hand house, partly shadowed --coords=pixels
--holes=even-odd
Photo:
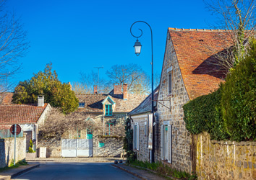
[[[224,72],[210,64],[214,55],[231,47],[225,30],[184,30],[168,28],[189,99],[218,89]]]

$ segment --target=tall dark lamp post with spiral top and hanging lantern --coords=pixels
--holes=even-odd
[[[152,91],[151,91],[151,100],[152,100],[152,107],[151,107],[151,113],[152,113],[152,118],[153,118],[153,125],[152,125],[152,151],[151,151],[151,161],[152,162],[154,162],[154,153],[155,153],[155,145],[154,145],[154,143],[155,143],[155,128],[154,128],[154,81],[153,81],[153,33],[152,33],[152,29],[151,29],[151,27],[150,27],[150,25],[147,23],[147,22],[144,22],[144,21],[137,21],[137,22],[142,22],[142,23],[145,23],[145,24],[147,24],[148,25],[148,27],[150,28],[150,32],[151,32],[151,53],[152,53],[152,61],[151,61],[151,66],[152,66],[152,75],[151,75],[151,80],[152,80]],[[134,22],[133,24],[132,24],[132,26],[134,25],[134,24],[136,24],[137,22]],[[132,34],[132,26],[131,26],[131,28],[130,28],[130,32],[131,32],[131,34]],[[140,30],[140,29],[139,29]],[[140,32],[141,32],[141,34],[139,35],[139,36],[135,36],[135,35],[133,35],[132,34],[132,36],[133,37],[136,37],[137,38],[137,40],[136,40],[136,42],[135,42],[135,45],[133,46],[133,47],[135,47],[135,54],[138,56],[138,55],[140,55],[140,50],[141,50],[141,47],[142,47],[142,45],[140,44],[140,41],[138,40],[138,38],[139,37],[141,37],[142,36],[142,30],[140,30]]]

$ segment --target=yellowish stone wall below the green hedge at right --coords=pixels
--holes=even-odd
[[[204,132],[195,143],[198,179],[256,179],[256,142],[210,140]]]

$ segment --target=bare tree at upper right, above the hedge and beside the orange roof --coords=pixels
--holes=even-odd
[[[248,38],[255,36],[255,0],[205,0],[205,3],[218,17],[215,27],[229,32],[233,46],[217,53],[216,62],[230,69],[244,57]]]

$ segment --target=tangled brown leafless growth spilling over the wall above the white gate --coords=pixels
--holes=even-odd
[[[46,121],[40,125],[40,140],[54,142],[67,138],[69,135],[76,136],[77,131],[91,130],[93,136],[103,135],[103,122],[94,120],[92,114],[84,114],[81,112],[73,112],[63,114],[60,109],[52,108],[48,114]],[[114,135],[118,137],[124,136],[124,125],[116,125],[114,127]]]

